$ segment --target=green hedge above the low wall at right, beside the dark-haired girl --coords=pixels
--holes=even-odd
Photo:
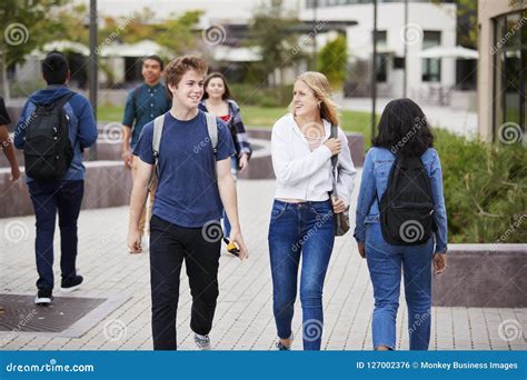
[[[527,242],[527,150],[436,130],[450,242]]]

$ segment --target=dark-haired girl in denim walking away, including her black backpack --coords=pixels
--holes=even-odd
[[[431,264],[447,267],[447,212],[441,163],[422,110],[390,101],[366,154],[355,238],[374,286],[374,349],[395,350],[401,272],[410,350],[427,350],[431,322]]]

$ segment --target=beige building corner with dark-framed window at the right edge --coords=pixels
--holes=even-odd
[[[527,1],[479,0],[478,23],[480,137],[525,144]]]

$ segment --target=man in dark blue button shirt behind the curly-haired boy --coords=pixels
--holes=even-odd
[[[132,179],[136,178],[138,158],[133,158],[131,151],[136,148],[142,128],[171,107],[171,100],[161,83],[162,70],[161,58],[158,56],[145,58],[141,71],[145,83],[128,93],[122,118],[122,159],[126,167],[131,169]],[[153,197],[150,197],[149,207],[140,218],[141,231],[145,230],[146,221],[149,219],[147,212],[152,209],[152,203]]]

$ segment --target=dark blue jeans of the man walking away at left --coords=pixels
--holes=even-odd
[[[57,212],[60,228],[60,271],[62,281],[77,276],[77,219],[84,193],[84,181],[31,181],[29,196],[37,218],[38,289],[53,289],[53,236]]]

